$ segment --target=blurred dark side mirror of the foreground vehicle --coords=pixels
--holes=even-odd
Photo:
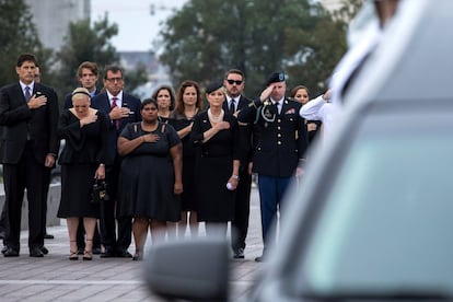
[[[224,237],[156,244],[144,262],[148,288],[165,299],[226,301],[229,270]]]

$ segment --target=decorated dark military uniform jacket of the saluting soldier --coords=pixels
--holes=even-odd
[[[239,121],[255,123],[258,128],[254,172],[271,177],[289,177],[295,172],[300,160],[304,159],[307,147],[306,127],[299,116],[300,103],[284,98],[280,114],[272,106],[276,113],[274,121],[263,117],[259,100],[240,112]]]

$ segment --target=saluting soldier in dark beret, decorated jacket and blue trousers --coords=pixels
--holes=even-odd
[[[258,128],[253,171],[258,173],[264,251],[256,262],[264,260],[271,223],[294,174],[302,174],[298,164],[305,160],[309,143],[299,116],[301,104],[284,96],[284,73],[270,74],[266,85],[259,100],[239,113],[241,123],[255,123]]]

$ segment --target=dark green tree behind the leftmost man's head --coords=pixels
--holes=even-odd
[[[15,61],[22,53],[34,54],[47,69],[51,51],[43,47],[23,0],[0,0],[0,86],[18,81]]]

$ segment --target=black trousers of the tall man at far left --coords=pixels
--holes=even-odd
[[[31,143],[18,164],[3,164],[4,202],[7,207],[8,247],[20,249],[22,202],[25,194],[28,201],[28,247],[42,247],[46,228],[47,190],[50,169],[34,158]]]

